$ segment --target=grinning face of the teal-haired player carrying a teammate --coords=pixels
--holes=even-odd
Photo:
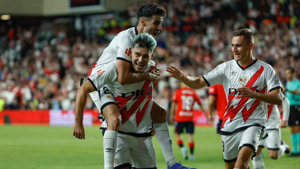
[[[132,48],[131,50],[132,68],[135,73],[142,73],[153,58],[154,54],[147,48]]]

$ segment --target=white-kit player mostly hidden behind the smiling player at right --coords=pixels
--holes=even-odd
[[[283,118],[280,119],[280,112],[277,105],[268,104],[268,118],[266,122],[266,131],[268,137],[259,143],[257,156],[253,157],[252,165],[255,169],[264,169],[265,164],[261,155],[262,149],[266,146],[269,149],[269,157],[276,160],[282,157],[284,153],[289,154],[289,146],[281,141],[280,128],[288,125],[290,102],[282,94],[282,111]]]

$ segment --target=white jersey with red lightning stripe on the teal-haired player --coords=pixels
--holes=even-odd
[[[151,65],[155,65],[152,60],[150,60],[144,72],[148,71]],[[88,80],[93,84],[95,91],[102,90],[105,85],[111,92],[122,117],[119,131],[137,134],[149,133],[152,128],[150,116],[153,103],[152,82],[146,80],[139,83],[120,85],[116,60],[102,66],[99,70],[98,74],[91,74]],[[107,126],[106,121],[101,125],[101,127],[103,126]]]

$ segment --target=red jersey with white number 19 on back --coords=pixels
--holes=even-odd
[[[193,121],[193,106],[195,101],[201,104],[200,98],[192,88],[180,88],[175,91],[172,98],[177,103],[175,121]]]

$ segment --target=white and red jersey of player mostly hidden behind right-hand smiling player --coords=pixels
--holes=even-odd
[[[288,98],[282,94],[282,111],[283,118],[282,120],[289,120],[290,113],[290,103]],[[281,122],[280,112],[277,105],[268,104],[268,118],[266,122],[266,130],[278,129]]]

